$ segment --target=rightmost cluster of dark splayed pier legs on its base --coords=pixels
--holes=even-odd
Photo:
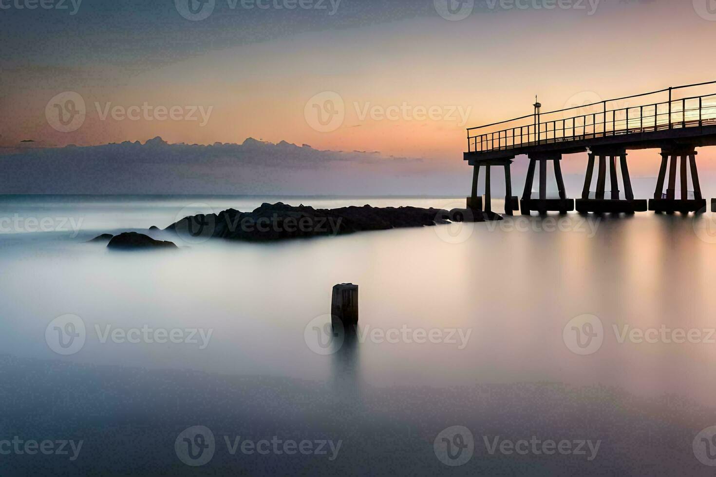
[[[705,212],[706,200],[701,195],[699,172],[696,167],[695,147],[692,145],[670,145],[662,148],[662,164],[659,168],[657,189],[654,191],[654,199],[649,200],[649,210],[657,213],[667,212]],[[679,163],[680,162],[680,163]],[[664,194],[664,181],[669,172],[667,191]],[[679,174],[679,198],[677,198],[677,172]],[[689,190],[689,173],[693,191]]]

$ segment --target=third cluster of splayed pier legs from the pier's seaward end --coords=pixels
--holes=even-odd
[[[620,196],[619,177],[616,159],[619,158],[621,170],[621,183],[624,185],[624,198]],[[599,159],[599,172],[596,178],[596,190],[591,191],[594,163]],[[609,197],[606,196],[606,166],[609,164]],[[576,201],[576,209],[580,213],[594,212],[626,213],[644,212],[648,209],[647,200],[634,200],[632,179],[629,177],[627,164],[627,151],[620,148],[594,149],[589,153],[589,159],[584,177],[584,189],[581,199]]]

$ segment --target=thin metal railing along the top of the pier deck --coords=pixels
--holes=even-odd
[[[536,113],[508,121],[468,129],[468,152],[492,152],[521,149],[540,144],[657,132],[666,129],[716,125],[716,92],[689,96],[689,90],[716,85],[716,82],[671,87],[657,92],[582,104],[546,113]],[[716,89],[716,86],[715,86]],[[674,99],[674,92],[686,96]],[[662,102],[647,102],[646,97],[668,94]],[[635,106],[608,109],[610,103],[638,102]],[[589,112],[585,113],[585,109]],[[561,114],[561,119],[543,118]],[[505,124],[512,127],[500,129]],[[492,130],[490,129],[498,129]]]

